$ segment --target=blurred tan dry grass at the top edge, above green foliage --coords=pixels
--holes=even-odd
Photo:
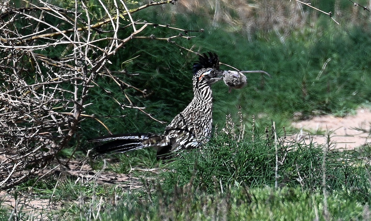
[[[220,23],[252,33],[257,30],[284,30],[301,27],[308,18],[302,5],[289,1],[179,1],[177,13],[206,14],[213,17],[213,25]]]

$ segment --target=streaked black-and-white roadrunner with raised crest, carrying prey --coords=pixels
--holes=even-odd
[[[152,133],[129,133],[91,139],[105,142],[94,148],[98,154],[124,153],[146,147],[157,149],[157,159],[168,159],[178,150],[198,148],[211,137],[213,94],[211,85],[223,78],[219,71],[219,57],[208,52],[193,64],[193,93],[190,104],[165,128],[162,135]]]

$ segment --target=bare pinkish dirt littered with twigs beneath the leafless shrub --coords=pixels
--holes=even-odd
[[[105,186],[114,184],[115,186],[120,187],[122,191],[130,191],[133,189],[144,188],[143,180],[152,180],[150,177],[136,177],[131,173],[132,171],[139,170],[157,173],[156,169],[147,170],[138,168],[132,168],[128,174],[98,171],[93,170],[85,162],[79,162],[76,160],[70,160],[66,165],[67,167],[59,165],[54,167],[52,170],[44,170],[43,174],[45,176],[54,176],[56,179],[59,177],[59,184],[62,183],[64,179],[69,179],[73,180],[75,184],[80,183],[82,185],[87,183],[95,183],[96,185]],[[61,176],[59,176],[59,174]],[[40,180],[39,182],[42,181]],[[16,188],[12,188],[0,191],[0,202],[4,207],[9,208],[9,213],[12,213],[12,217],[28,217],[31,220],[54,220],[54,218],[49,217],[50,215],[48,214],[53,214],[55,211],[62,208],[62,204],[66,204],[66,201],[62,202],[52,198],[37,197],[32,193],[32,188],[29,188],[29,190],[30,192],[20,192]],[[81,202],[73,200],[67,203],[78,205]]]

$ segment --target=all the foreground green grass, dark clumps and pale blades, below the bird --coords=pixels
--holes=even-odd
[[[183,152],[168,162],[156,163],[154,152],[148,150],[133,152],[130,158],[124,154],[111,156],[105,170],[127,173],[132,167],[157,169],[156,173],[131,173],[142,179],[144,185],[139,189],[129,189],[127,184],[78,181],[76,177],[61,174],[50,175],[43,182],[30,180],[16,192],[28,192],[32,198],[51,198],[59,210],[44,213],[66,220],[316,220],[316,217],[367,220],[369,217],[369,146],[338,152],[312,144],[282,146],[281,139],[275,142],[271,128],[266,131],[255,126],[254,141],[251,130],[245,131],[243,137],[239,136],[239,128],[227,131],[228,134],[219,131],[205,149]],[[101,170],[101,160],[96,161],[96,169]],[[0,217],[3,214],[3,220],[7,220],[11,209],[4,208]],[[25,220],[27,215],[20,218]]]

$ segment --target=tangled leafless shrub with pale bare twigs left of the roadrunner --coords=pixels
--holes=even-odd
[[[119,87],[145,93],[114,76],[106,64],[133,38],[170,43],[178,37],[189,39],[187,32],[168,38],[143,36],[141,32],[154,24],[134,21],[130,14],[176,1],[150,1],[138,6],[123,0],[98,0],[101,16],[77,0],[69,4],[61,1],[59,6],[43,0],[18,8],[13,3],[1,4],[0,188],[41,174],[56,153],[78,135],[83,118],[102,123],[84,113],[91,104],[89,89],[100,86],[95,79],[111,78]],[[120,39],[118,33],[123,29],[131,31]],[[59,54],[48,56],[54,48],[62,47]],[[129,96],[126,103],[116,102],[144,112]]]

